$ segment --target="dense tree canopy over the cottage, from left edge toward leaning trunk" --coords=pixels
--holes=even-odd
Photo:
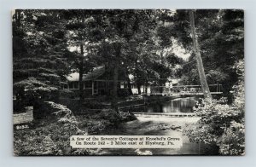
[[[68,73],[79,72],[81,81],[84,73],[102,65],[113,80],[113,106],[119,72],[130,90],[129,75],[138,87],[165,83],[181,62],[170,49],[173,15],[169,10],[15,10],[14,96],[56,101]]]

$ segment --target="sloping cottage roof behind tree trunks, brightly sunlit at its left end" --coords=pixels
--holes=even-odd
[[[95,80],[102,76],[105,72],[105,66],[95,67],[92,72],[88,72],[83,75],[83,81]],[[79,72],[71,73],[67,76],[68,81],[79,81]]]

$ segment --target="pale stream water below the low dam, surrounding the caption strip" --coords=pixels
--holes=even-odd
[[[103,135],[171,135],[180,137],[183,146],[180,148],[146,148],[139,149],[141,153],[151,155],[218,155],[218,147],[204,143],[190,142],[183,135],[187,124],[193,124],[197,119],[188,122],[186,118],[140,118],[120,124],[118,129],[104,131]],[[138,155],[137,149],[102,149],[102,155]]]

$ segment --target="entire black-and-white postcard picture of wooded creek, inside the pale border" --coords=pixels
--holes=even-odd
[[[15,156],[245,154],[243,10],[15,9],[12,28]]]

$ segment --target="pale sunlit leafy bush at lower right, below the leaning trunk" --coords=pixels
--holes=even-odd
[[[245,92],[244,61],[236,63],[239,82],[234,89],[234,102],[226,104],[224,98],[207,103],[201,101],[195,107],[195,113],[201,119],[197,124],[189,125],[186,134],[191,141],[217,144],[219,153],[241,155],[245,153]]]

